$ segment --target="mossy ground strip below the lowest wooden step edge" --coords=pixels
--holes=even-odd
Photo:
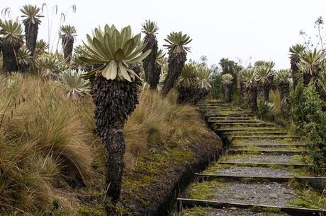
[[[184,216],[199,216],[199,215],[208,215],[208,216],[238,216],[238,215],[247,215],[247,216],[281,216],[288,215],[286,213],[276,213],[276,212],[256,212],[254,210],[249,209],[241,209],[241,208],[193,208],[186,209],[181,212],[181,215]]]

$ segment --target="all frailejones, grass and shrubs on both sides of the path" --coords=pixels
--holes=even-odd
[[[316,47],[292,46],[291,68],[225,58],[208,67],[204,56],[187,61],[192,39],[184,32],[159,47],[151,20],[142,32],[94,27],[76,46],[66,13],[57,30],[62,50],[53,51],[38,38],[46,7],[26,5],[21,19],[0,20],[0,215],[154,212],[152,199],[167,203],[161,192],[178,186],[173,176],[220,149],[195,106],[207,97],[293,125],[315,171],[326,167],[322,38]]]

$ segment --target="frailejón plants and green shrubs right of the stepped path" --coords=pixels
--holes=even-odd
[[[323,24],[322,18],[315,22]],[[273,61],[242,66],[221,59],[220,70],[215,70],[210,81],[210,97],[249,109],[305,137],[315,171],[325,174],[326,51],[322,37],[318,39],[317,45],[305,40],[305,44],[291,46],[288,69],[275,70]]]

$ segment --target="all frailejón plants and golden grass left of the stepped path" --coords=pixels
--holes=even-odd
[[[136,33],[94,28],[75,46],[78,30],[63,18],[62,51],[53,52],[38,39],[45,7],[26,5],[21,21],[0,20],[0,215],[146,209],[156,191],[144,188],[219,148],[191,106],[208,95],[212,73],[186,63],[184,32],[159,49],[150,20]]]

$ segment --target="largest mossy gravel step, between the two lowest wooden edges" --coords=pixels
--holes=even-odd
[[[305,182],[307,179],[325,179],[316,177],[279,177],[235,176],[196,174],[196,181],[189,188],[189,198],[206,200],[224,200],[225,202],[248,203],[256,205],[291,206],[298,208],[295,200],[305,200],[304,188],[293,181]],[[286,183],[286,184],[284,184]],[[305,183],[303,183],[305,185]],[[204,193],[204,194],[203,194]],[[315,191],[317,193],[317,191]],[[322,196],[322,193],[317,194]],[[320,203],[321,204],[321,203]],[[322,205],[318,205],[322,206]]]

